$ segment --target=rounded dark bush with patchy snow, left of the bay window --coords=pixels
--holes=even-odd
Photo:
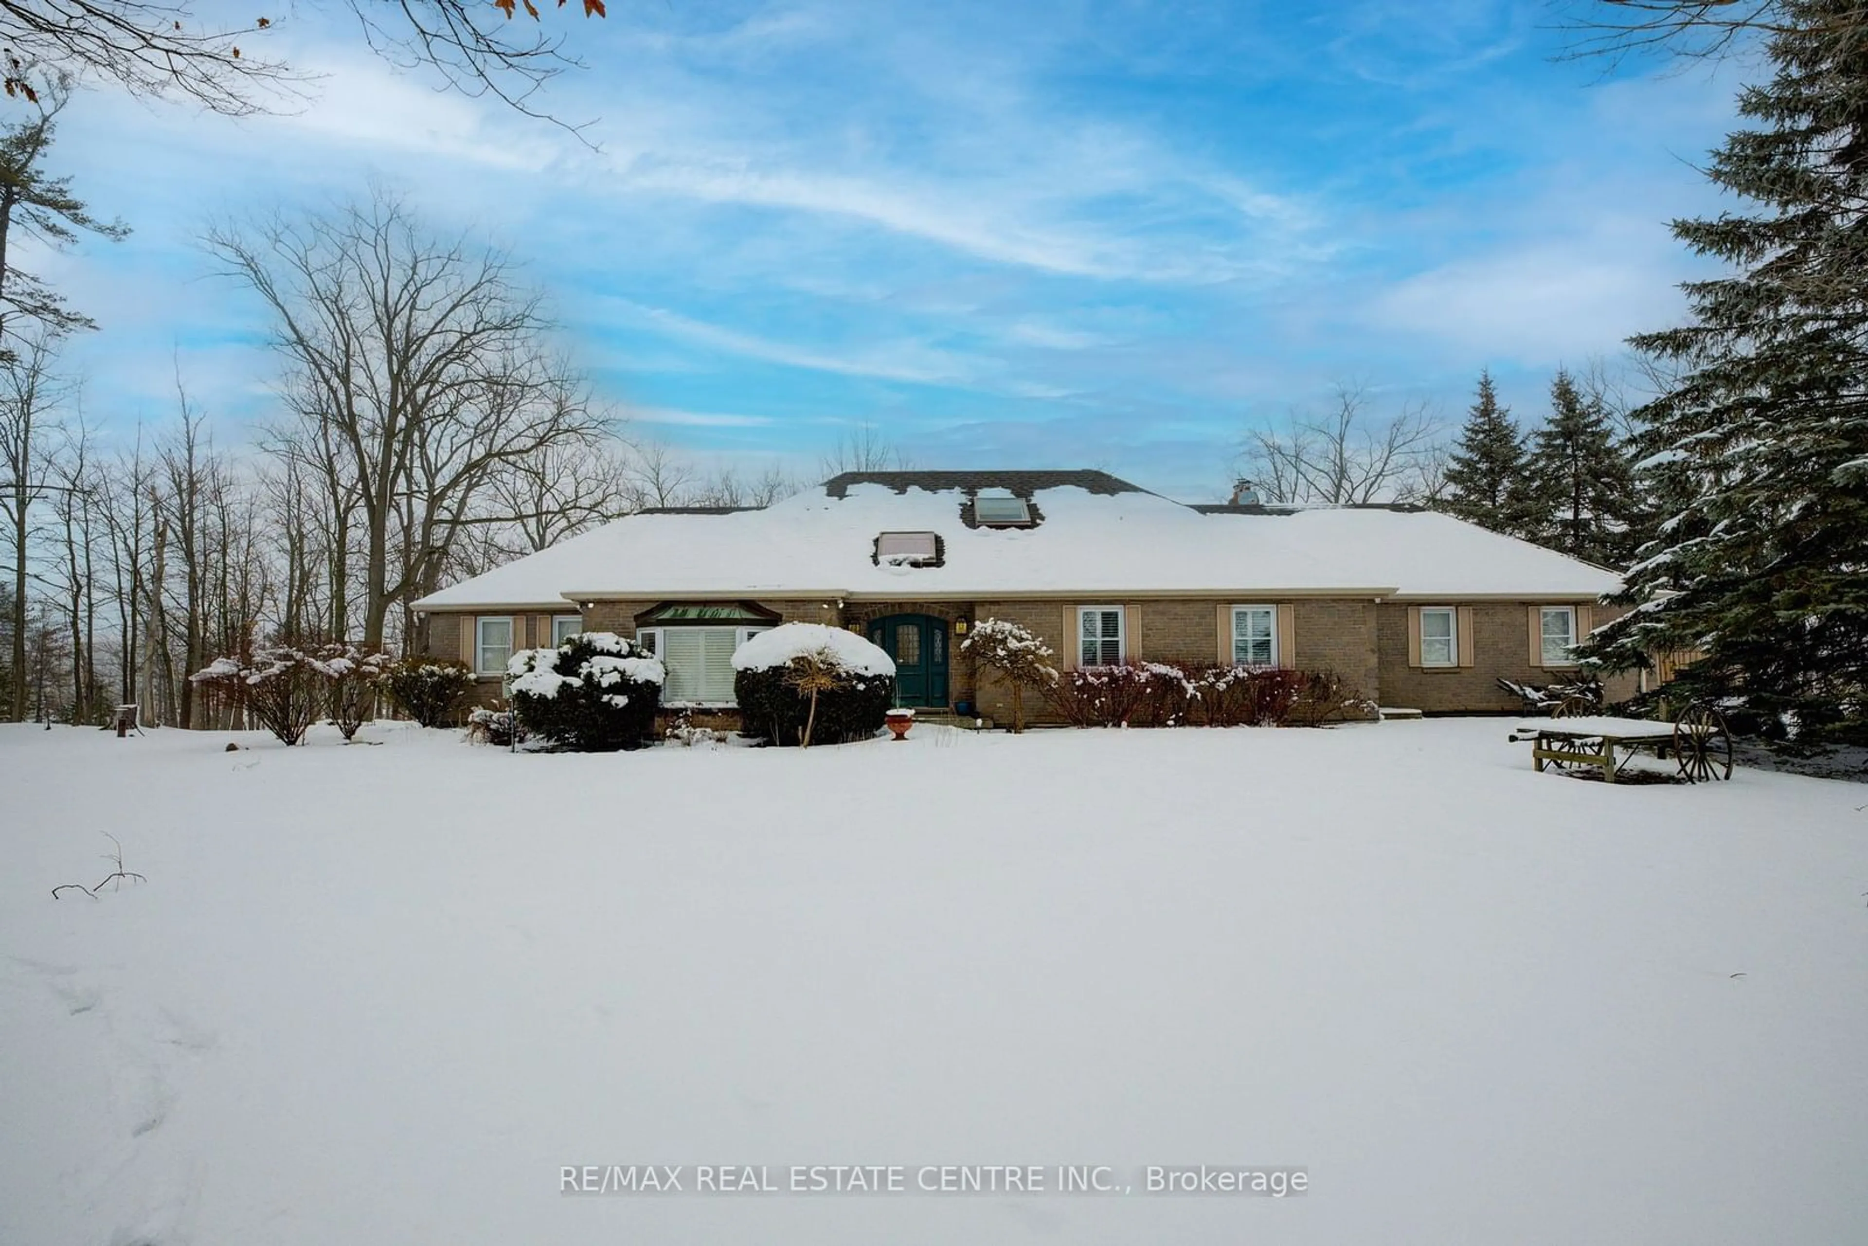
[[[506,674],[525,729],[577,753],[648,743],[667,680],[656,658],[615,631],[581,631],[557,648],[523,648]]]

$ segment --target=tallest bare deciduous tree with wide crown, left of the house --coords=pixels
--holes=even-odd
[[[390,194],[217,226],[207,247],[273,316],[290,379],[269,448],[331,497],[338,559],[355,523],[361,641],[377,650],[390,609],[439,583],[493,478],[601,435],[603,418],[549,351],[512,262],[433,237]]]

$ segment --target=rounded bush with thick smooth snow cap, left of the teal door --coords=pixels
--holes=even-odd
[[[773,743],[844,743],[882,730],[895,663],[854,631],[783,624],[732,654],[742,730]]]

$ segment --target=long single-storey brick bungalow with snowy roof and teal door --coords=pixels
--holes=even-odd
[[[732,650],[779,622],[863,631],[904,704],[1009,717],[960,641],[983,618],[1065,667],[1130,659],[1334,669],[1382,706],[1513,710],[1496,680],[1573,673],[1620,585],[1410,506],[1186,506],[1100,471],[844,473],[768,508],[616,519],[415,603],[430,652],[501,693],[512,650],[616,631],[663,701],[730,710]]]

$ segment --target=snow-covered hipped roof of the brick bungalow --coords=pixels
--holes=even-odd
[[[913,480],[921,476],[934,488]],[[1614,573],[1451,516],[1390,508],[1203,514],[1104,473],[839,476],[764,510],[639,514],[433,592],[417,609],[600,598],[1401,596],[1584,600]],[[1001,478],[1001,480],[1003,480]],[[1113,488],[1121,486],[1121,488]],[[1011,488],[1033,527],[977,527]],[[880,532],[936,532],[938,566],[876,559]]]

